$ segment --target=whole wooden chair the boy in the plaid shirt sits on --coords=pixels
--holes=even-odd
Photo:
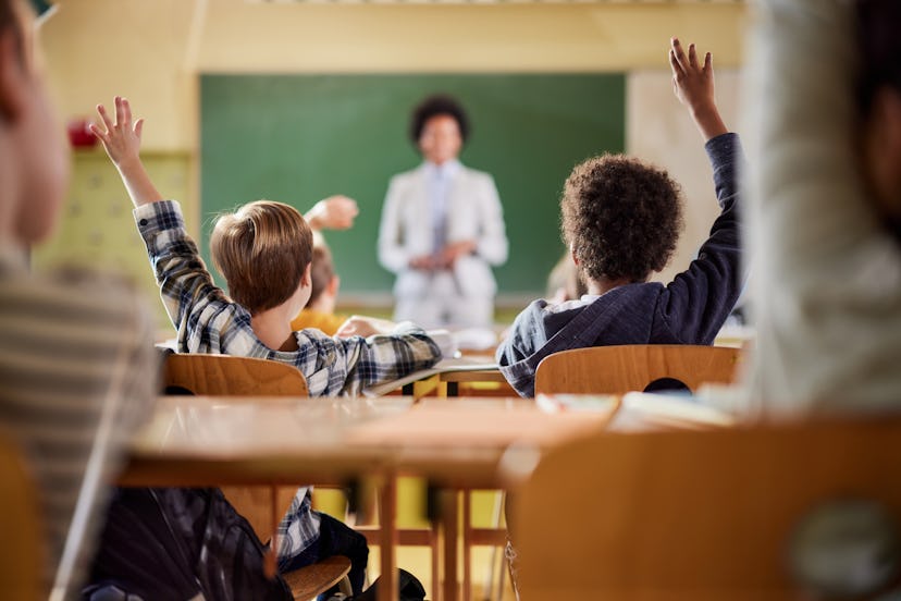
[[[308,396],[307,380],[296,368],[251,357],[202,353],[166,355],[163,387],[169,393],[219,396]],[[291,505],[296,487],[221,487],[235,510],[250,523],[260,540],[269,539]],[[294,598],[308,600],[344,581],[350,560],[334,556],[284,574]]]

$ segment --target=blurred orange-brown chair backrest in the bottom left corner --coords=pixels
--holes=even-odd
[[[37,489],[18,447],[0,436],[0,586],[9,599],[46,598]]]

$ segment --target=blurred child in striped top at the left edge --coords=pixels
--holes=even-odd
[[[84,272],[28,271],[28,248],[50,235],[69,183],[35,35],[28,4],[0,0],[0,434],[21,446],[38,488],[40,587],[46,596],[55,577],[71,597],[106,485],[155,398],[157,366],[152,321],[132,290]]]

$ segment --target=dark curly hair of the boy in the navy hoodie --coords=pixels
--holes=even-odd
[[[663,269],[682,231],[679,184],[622,155],[572,169],[560,198],[564,242],[588,280],[644,282]]]

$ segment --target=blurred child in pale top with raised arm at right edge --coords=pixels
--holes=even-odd
[[[765,0],[750,62],[752,410],[901,407],[901,2]]]

